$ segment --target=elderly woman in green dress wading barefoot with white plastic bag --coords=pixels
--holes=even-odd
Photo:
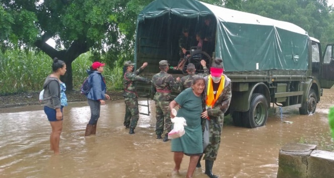
[[[178,111],[177,117],[184,117],[187,121],[187,126],[185,126],[186,133],[180,138],[172,139],[175,172],[179,172],[183,155],[186,154],[187,156],[190,156],[186,177],[193,176],[198,158],[203,153],[201,114],[203,114],[202,93],[204,88],[204,78],[201,76],[195,76],[192,87],[184,90],[169,105],[171,111],[177,105],[180,105],[181,108]],[[175,115],[171,112],[171,118],[174,117]]]

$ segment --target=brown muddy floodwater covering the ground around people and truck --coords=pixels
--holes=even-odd
[[[327,124],[334,90],[325,90],[316,114],[298,110],[270,114],[267,125],[256,129],[224,125],[222,143],[213,172],[220,177],[276,177],[280,147],[289,142],[317,144],[330,150]],[[142,104],[145,101],[141,101]],[[51,127],[42,106],[0,109],[0,177],[184,177],[189,157],[174,167],[170,142],[156,140],[154,102],[151,116],[140,115],[134,135],[123,127],[124,102],[101,108],[97,134],[84,137],[90,110],[87,102],[69,103],[64,111],[60,155],[49,150]],[[140,107],[147,113],[147,108]],[[226,119],[227,120],[227,119]],[[204,161],[202,160],[204,166]],[[207,177],[197,168],[194,177]]]

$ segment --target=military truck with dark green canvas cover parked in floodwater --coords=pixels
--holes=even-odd
[[[159,72],[160,60],[176,66],[182,29],[187,27],[194,35],[207,28],[207,17],[215,29],[210,59],[223,59],[224,74],[232,81],[228,113],[236,126],[264,126],[269,109],[315,113],[322,88],[334,83],[333,45],[322,51],[317,39],[294,24],[199,1],[156,0],[139,14],[135,62],[149,63],[144,75]],[[175,70],[169,73],[184,75]],[[149,92],[148,85],[138,88]]]

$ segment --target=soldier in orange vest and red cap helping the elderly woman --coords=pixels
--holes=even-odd
[[[217,177],[212,173],[213,162],[217,158],[220,145],[220,136],[224,122],[224,113],[227,111],[231,97],[231,80],[223,73],[222,59],[216,58],[210,68],[211,74],[204,77],[206,82],[206,112],[203,135],[203,150],[205,159],[205,173],[209,177]],[[199,160],[200,161],[200,160]]]

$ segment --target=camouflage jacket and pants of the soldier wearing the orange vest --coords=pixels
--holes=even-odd
[[[215,161],[217,158],[220,136],[224,122],[224,113],[227,111],[232,97],[231,80],[226,75],[224,76],[224,90],[221,92],[214,106],[212,108],[208,108],[210,120],[206,120],[206,122],[209,123],[209,145],[204,148],[205,155],[203,159],[210,161]],[[208,77],[205,77],[205,81],[207,85]]]

